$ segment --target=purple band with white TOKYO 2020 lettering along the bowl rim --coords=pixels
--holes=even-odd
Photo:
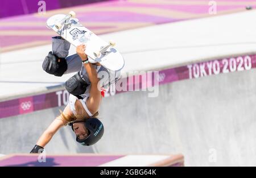
[[[147,80],[142,80],[143,74],[139,76],[124,77],[119,82],[123,82],[125,88],[110,88],[105,93],[105,97],[115,94],[129,92],[135,89],[142,90],[154,85],[163,85],[175,81],[191,80],[193,78],[207,77],[210,75],[226,74],[230,72],[249,71],[256,68],[256,55],[246,55],[216,59],[201,63],[189,64],[182,67],[170,68],[159,71],[158,76],[154,72],[147,76]],[[139,80],[135,80],[135,78]],[[155,77],[158,77],[155,80]],[[158,84],[156,84],[156,81]],[[0,119],[19,114],[31,113],[33,111],[48,109],[68,104],[69,93],[67,90],[60,90],[36,96],[16,98],[14,100],[0,102]]]

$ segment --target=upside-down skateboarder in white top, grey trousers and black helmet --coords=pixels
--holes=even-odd
[[[79,45],[76,54],[68,56],[70,44],[67,41],[57,36],[52,38],[52,42],[52,52],[43,62],[44,71],[55,76],[78,73],[65,82],[66,89],[71,93],[69,104],[40,136],[31,153],[42,151],[56,131],[67,125],[71,126],[76,141],[83,146],[96,143],[104,133],[104,126],[97,118],[104,89],[120,76],[120,72],[109,71],[98,63],[92,64],[93,61],[84,52],[85,45]],[[98,77],[101,72],[104,74]]]

